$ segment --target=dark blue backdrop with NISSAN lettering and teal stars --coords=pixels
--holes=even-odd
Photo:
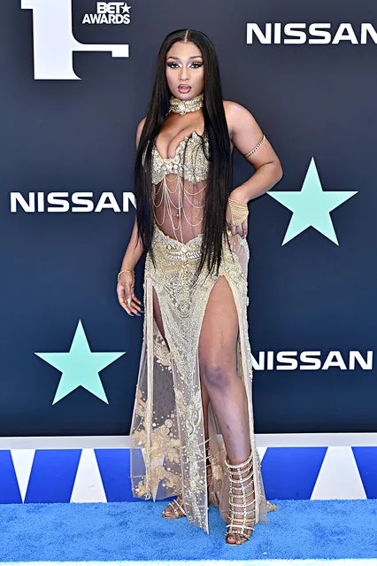
[[[374,0],[128,2],[0,5],[0,435],[129,431],[142,318],[116,275],[135,128],[181,27],[284,170],[250,205],[256,432],[376,431]],[[235,185],[252,173],[235,152]]]

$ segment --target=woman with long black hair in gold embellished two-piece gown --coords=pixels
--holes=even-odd
[[[140,315],[135,265],[146,252],[145,318],[131,436],[135,497],[165,499],[165,518],[208,532],[208,504],[242,544],[276,509],[255,446],[247,322],[247,203],[281,179],[253,116],[223,101],[206,35],[177,30],[158,55],[136,133],[135,226],[119,303]],[[233,148],[256,173],[231,190]]]

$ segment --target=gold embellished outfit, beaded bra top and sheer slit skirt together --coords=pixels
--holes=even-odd
[[[208,175],[208,139],[195,131],[178,145],[173,158],[152,148],[155,203],[154,266],[147,253],[144,275],[142,353],[131,424],[131,482],[134,496],[160,500],[183,494],[190,523],[209,531],[208,503],[227,520],[229,507],[226,450],[209,405],[212,482],[207,492],[204,417],[198,344],[207,300],[219,276],[233,292],[239,321],[237,373],[246,389],[256,499],[255,523],[267,523],[273,506],[265,490],[254,437],[252,368],[248,334],[247,268],[249,247],[241,236],[224,241],[219,275],[204,269],[195,281],[200,257],[203,204]],[[153,290],[165,338],[153,317]]]

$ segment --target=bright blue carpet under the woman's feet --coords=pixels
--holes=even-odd
[[[225,544],[210,508],[210,535],[165,520],[164,502],[0,506],[0,562],[341,559],[377,557],[377,500],[274,500],[279,510],[250,541]]]

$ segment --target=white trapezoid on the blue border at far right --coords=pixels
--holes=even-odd
[[[350,446],[328,446],[311,499],[366,499],[365,489]]]

